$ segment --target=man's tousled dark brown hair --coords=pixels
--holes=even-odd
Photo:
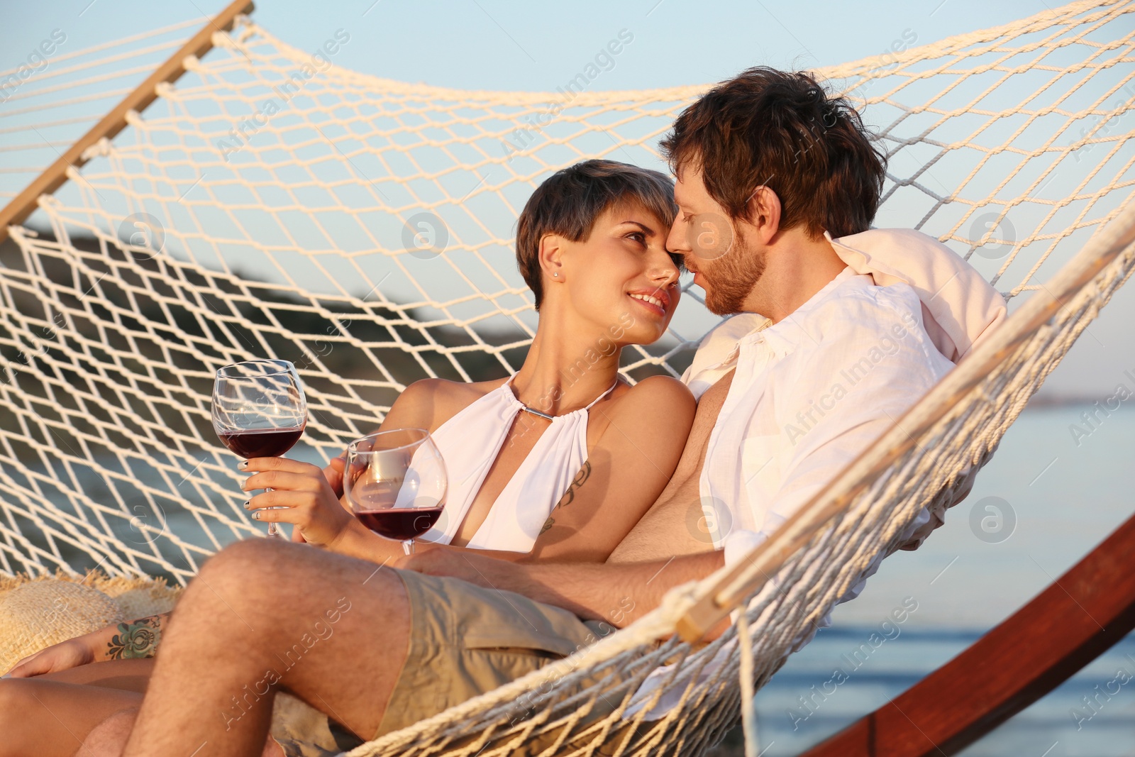
[[[701,169],[706,191],[731,218],[767,186],[781,201],[781,228],[866,232],[878,209],[886,157],[859,113],[812,74],[758,67],[718,84],[682,111],[659,143],[676,176]]]

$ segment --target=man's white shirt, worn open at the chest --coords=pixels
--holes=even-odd
[[[772,536],[952,368],[924,329],[922,304],[909,285],[876,286],[851,268],[779,323],[742,313],[707,335],[682,380],[700,397],[733,371],[698,487],[707,537],[725,550],[725,564]],[[928,520],[923,512],[907,533]],[[841,600],[863,590],[882,557]],[[765,590],[776,590],[775,583],[776,578]],[[818,623],[827,624],[827,617]],[[724,664],[733,646],[723,646],[700,668],[699,681]],[[684,685],[667,687],[672,674],[669,666],[651,673],[624,717],[661,688],[667,690],[647,720],[675,707]]]

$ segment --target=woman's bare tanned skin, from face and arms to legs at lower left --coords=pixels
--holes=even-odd
[[[622,347],[653,343],[665,333],[680,298],[679,268],[665,250],[666,233],[663,221],[641,204],[628,202],[602,213],[586,239],[572,242],[556,234],[543,237],[539,261],[545,294],[535,339],[514,380],[521,402],[549,414],[582,407],[615,381]],[[572,373],[570,367],[588,353],[588,369],[581,376]],[[415,382],[390,409],[382,428],[436,429],[502,381]],[[663,407],[665,412],[661,411]],[[693,412],[692,397],[675,379],[651,377],[633,387],[622,381],[592,407],[588,423],[589,472],[586,486],[572,493],[571,507],[553,511],[554,524],[540,533],[531,553],[489,554],[508,561],[605,560],[666,485]],[[523,417],[524,424],[510,431],[478,490],[454,539],[456,546],[445,549],[469,552],[461,545],[476,533],[493,502],[548,426],[544,419]],[[606,432],[608,427],[611,431]],[[247,508],[260,514],[263,522],[297,525],[295,532],[325,547],[320,550],[325,554],[335,552],[367,560],[365,564],[371,565],[367,573],[373,571],[375,563],[402,555],[398,542],[362,527],[350,514],[348,505],[340,502],[342,461],[320,470],[299,461],[254,459],[245,470],[258,471],[245,480],[243,488],[250,493]],[[621,476],[613,476],[616,470]],[[276,490],[254,494],[264,487]],[[287,508],[260,510],[268,506]],[[270,545],[258,546],[270,548]],[[422,552],[435,548],[428,544],[419,547]],[[217,562],[210,565],[216,566]],[[385,575],[373,577],[368,587],[378,587]],[[208,582],[220,589],[211,579]],[[382,612],[392,612],[396,606],[392,604]],[[296,612],[304,615],[304,611]],[[398,626],[390,625],[389,630],[397,632]],[[87,636],[94,639],[99,633]],[[108,717],[99,730],[91,732],[86,746],[95,754],[103,754],[104,748],[110,750],[108,754],[120,749],[133,727],[141,692],[150,682],[155,658],[95,663],[104,659],[98,651],[106,640],[94,639],[98,648],[93,648],[82,642],[85,638],[50,647],[25,661],[14,674],[34,678],[0,687],[0,700],[7,697],[14,705],[5,712],[20,713],[18,722],[0,716],[0,730],[7,737],[0,740],[5,742],[0,745],[0,757],[9,754],[6,751],[9,747],[11,754],[22,754],[22,741],[35,743],[41,755],[73,754],[78,746],[75,739],[82,739]],[[404,644],[393,646],[403,648]],[[129,676],[116,673],[127,668]],[[119,689],[111,692],[102,688],[111,685],[103,683],[106,680],[117,680]],[[50,707],[16,706],[31,700],[33,695],[49,701]],[[127,712],[111,716],[123,709]],[[346,710],[342,712],[347,717]],[[251,724],[249,718],[241,726]],[[368,729],[372,732],[376,725],[363,721],[360,732]],[[278,754],[274,742],[266,746],[264,754]]]

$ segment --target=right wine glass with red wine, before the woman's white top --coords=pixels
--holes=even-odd
[[[379,431],[347,445],[343,491],[363,525],[414,552],[414,537],[434,528],[445,507],[448,477],[424,429]]]

